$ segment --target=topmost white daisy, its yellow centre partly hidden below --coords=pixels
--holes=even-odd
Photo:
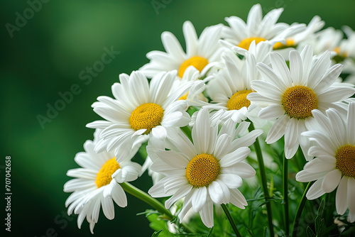
[[[283,9],[273,9],[263,17],[260,4],[256,4],[251,7],[246,23],[237,16],[226,17],[229,27],[223,29],[222,35],[225,40],[246,50],[254,40],[256,44],[265,40],[272,45],[285,44],[286,38],[305,30],[305,24],[276,23],[282,12]]]

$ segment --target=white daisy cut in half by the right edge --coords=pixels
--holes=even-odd
[[[319,127],[302,133],[313,142],[309,155],[315,157],[307,162],[296,175],[299,182],[311,182],[307,199],[316,199],[337,188],[335,204],[337,213],[343,215],[349,208],[348,221],[355,221],[355,102],[349,104],[347,119],[334,109],[327,116],[312,111]]]

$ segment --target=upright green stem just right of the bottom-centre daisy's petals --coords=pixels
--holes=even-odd
[[[253,123],[251,122],[249,125],[249,132],[253,131],[255,128],[253,126]],[[254,143],[254,149],[256,153],[256,158],[258,158],[258,167],[259,167],[259,172],[260,172],[260,177],[261,177],[261,186],[263,187],[263,193],[266,201],[266,211],[268,211],[268,227],[270,229],[270,236],[274,236],[273,232],[273,213],[271,211],[271,202],[268,202],[270,199],[270,195],[268,192],[268,183],[267,183],[267,178],[266,178],[266,170],[265,170],[265,165],[263,162],[263,153],[261,152],[261,147],[258,141],[258,138],[256,138],[255,143]]]

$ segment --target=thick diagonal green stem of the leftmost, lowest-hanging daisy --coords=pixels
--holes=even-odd
[[[133,186],[132,184],[129,184],[128,182],[123,182],[120,185],[124,189],[124,191],[128,192],[129,194],[133,195],[138,199],[141,199],[143,202],[146,202],[146,204],[149,204],[155,210],[165,215],[164,217],[169,221],[172,221],[174,219],[173,214],[171,214],[168,209],[165,209],[165,206],[161,202],[151,197],[151,195],[147,194],[146,192],[143,192],[141,189],[138,189],[137,187]],[[185,224],[181,224],[181,226],[184,227],[187,232],[194,233],[194,231],[192,231],[190,227],[185,226]]]

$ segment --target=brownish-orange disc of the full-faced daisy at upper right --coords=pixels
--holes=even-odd
[[[312,109],[318,108],[317,94],[308,87],[289,87],[283,93],[281,104],[291,118],[307,118],[312,116]]]

